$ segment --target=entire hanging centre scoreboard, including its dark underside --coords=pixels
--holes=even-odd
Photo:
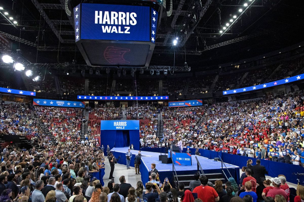
[[[74,12],[75,41],[88,65],[150,63],[158,12],[148,6],[81,3]]]

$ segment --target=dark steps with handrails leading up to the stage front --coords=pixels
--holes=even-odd
[[[221,180],[223,182],[223,188],[225,188],[226,180],[223,178],[222,173],[205,173],[206,177],[208,177],[208,181],[212,182],[213,187],[216,180]],[[194,181],[193,174],[182,174],[177,175],[178,182],[183,182],[185,184],[185,190],[190,190],[189,184],[190,182]]]

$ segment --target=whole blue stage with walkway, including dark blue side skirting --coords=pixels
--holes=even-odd
[[[128,151],[129,147],[114,147],[111,151],[113,151],[114,156],[117,158],[118,156],[121,156],[118,163],[126,165],[126,157],[125,154]],[[134,157],[135,154],[138,154],[138,150],[131,150],[132,152],[132,158],[130,166],[134,167]],[[149,171],[151,170],[151,164],[156,164],[156,169],[159,171],[160,179],[164,180],[165,177],[168,177],[169,180],[172,182],[172,164],[163,164],[161,161],[158,161],[158,156],[160,153],[157,152],[147,152],[147,151],[141,151],[142,157],[142,163],[140,164],[140,173],[141,173],[141,180],[143,184],[145,184],[147,181],[149,181]],[[199,163],[202,166],[202,169],[204,172],[207,173],[222,173],[222,163],[219,161],[214,161],[211,159],[208,159],[206,157],[197,156]],[[226,164],[226,163],[225,163]],[[229,177],[229,173],[226,171],[225,166],[224,172]],[[230,171],[232,177],[237,181],[239,181],[240,178],[240,170],[238,166],[232,165],[232,164],[226,164],[226,167]],[[192,155],[192,165],[191,166],[183,166],[183,165],[175,165],[175,169],[177,174],[194,174],[197,172],[197,162],[195,160],[195,155]]]

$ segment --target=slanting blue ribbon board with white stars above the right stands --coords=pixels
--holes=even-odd
[[[275,86],[282,85],[282,84],[288,84],[293,81],[299,81],[299,80],[302,80],[303,78],[304,78],[304,74],[300,74],[300,75],[292,76],[289,78],[284,78],[284,79],[277,80],[277,81],[271,81],[269,83],[223,91],[223,95],[243,93],[243,92],[248,92],[248,91],[260,90],[263,88],[275,87]]]

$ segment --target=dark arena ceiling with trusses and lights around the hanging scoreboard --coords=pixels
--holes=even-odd
[[[164,13],[161,19],[150,65],[182,66],[186,60],[192,70],[201,71],[303,41],[301,0],[202,0],[200,9],[198,0],[172,3],[171,16],[164,17]],[[13,49],[20,50],[30,62],[71,63],[76,59],[78,64],[85,64],[74,43],[64,0],[7,0],[0,7],[0,12],[8,12],[0,15],[0,31],[21,39],[14,42]],[[173,46],[176,37],[178,45]]]

